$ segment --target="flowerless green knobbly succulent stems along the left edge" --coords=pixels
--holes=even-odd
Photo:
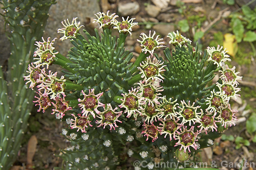
[[[34,92],[23,81],[38,40],[55,0],[1,0],[6,35],[11,43],[8,70],[0,68],[0,169],[10,169],[27,129]],[[29,71],[34,70],[30,67]],[[34,72],[37,72],[36,70]],[[31,87],[33,83],[31,82]]]

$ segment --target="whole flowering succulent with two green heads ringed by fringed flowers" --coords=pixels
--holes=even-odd
[[[25,77],[38,88],[39,111],[52,106],[52,114],[70,125],[62,130],[71,146],[60,154],[66,162],[61,169],[125,169],[129,157],[146,161],[145,166],[134,164],[136,169],[181,162],[213,145],[212,139],[233,124],[237,110],[229,101],[239,96],[241,77],[224,65],[230,61],[225,49],[209,47],[201,57],[198,44],[194,49],[177,31],[169,35],[176,47],[172,53],[166,48],[163,60],[153,55],[164,42],[150,31],[141,34],[142,52],[130,63],[132,53],[124,43],[137,24],[134,18],[118,22],[109,12],[96,17],[101,35],[97,29],[96,36],[83,30],[85,38],[76,18],[59,29],[60,40],[74,45],[68,58],[55,50],[55,39],[36,42],[34,57],[41,63],[31,63],[30,79]],[[115,29],[117,39],[111,34]],[[47,73],[43,66],[51,64],[65,68],[65,76]],[[218,71],[221,77],[213,83]]]

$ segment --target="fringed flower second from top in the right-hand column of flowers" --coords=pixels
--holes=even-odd
[[[236,72],[236,67],[229,68],[226,64],[225,66],[222,66],[222,70],[219,70],[221,72],[220,79],[224,78],[226,82],[233,82],[234,84],[238,84],[238,80],[242,80],[242,77],[238,74],[240,72]]]

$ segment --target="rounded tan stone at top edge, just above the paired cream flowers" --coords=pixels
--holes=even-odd
[[[119,3],[118,12],[123,16],[134,15],[140,11],[138,2]]]

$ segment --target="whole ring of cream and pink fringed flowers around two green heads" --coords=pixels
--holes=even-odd
[[[132,23],[135,18],[129,17],[125,20],[123,18],[122,22],[118,22],[115,18],[118,17],[115,14],[97,13],[97,18],[95,22],[100,23],[100,28],[113,28],[117,29],[119,33],[131,34],[131,27],[137,25],[137,23]],[[73,18],[70,23],[69,20],[65,20],[65,24],[62,22],[65,28],[58,29],[58,33],[63,33],[64,36],[60,40],[75,38],[80,26],[80,22],[76,22],[76,18]],[[134,87],[129,90],[129,93],[122,94],[122,103],[118,107],[112,108],[110,103],[103,104],[99,101],[103,92],[99,94],[94,93],[94,89],[90,89],[89,93],[86,94],[85,91],[81,91],[81,96],[83,99],[77,99],[78,103],[76,106],[80,107],[82,110],[81,114],[75,115],[71,114],[73,118],[70,122],[71,129],[77,129],[77,132],[81,130],[82,133],[86,133],[86,128],[93,126],[91,122],[95,120],[97,127],[103,126],[105,128],[107,125],[110,126],[110,130],[118,127],[117,122],[122,123],[118,118],[122,114],[127,118],[133,116],[137,119],[138,116],[142,117],[143,131],[142,134],[146,136],[146,140],[152,138],[154,142],[158,135],[169,135],[170,140],[175,140],[175,146],[181,146],[180,150],[184,149],[184,152],[188,149],[190,152],[190,147],[195,150],[198,148],[196,143],[197,136],[199,133],[211,129],[212,131],[217,131],[217,122],[221,122],[222,126],[226,127],[227,123],[230,126],[233,120],[236,119],[234,114],[237,110],[232,110],[230,108],[229,100],[230,98],[236,99],[238,91],[240,89],[237,87],[238,80],[241,77],[238,76],[239,72],[235,72],[235,67],[232,69],[228,68],[227,65],[223,65],[225,61],[230,61],[225,49],[222,47],[209,47],[207,49],[209,53],[208,62],[213,62],[217,67],[222,67],[221,72],[221,82],[216,83],[216,87],[211,91],[211,96],[207,98],[206,105],[208,106],[205,111],[201,108],[198,103],[190,101],[177,101],[175,99],[166,99],[166,96],[161,97],[161,91],[163,88],[160,83],[163,82],[162,73],[165,71],[163,62],[158,61],[157,58],[153,57],[154,50],[157,48],[165,47],[160,42],[162,39],[158,39],[158,36],[154,39],[155,32],[151,36],[151,31],[149,36],[142,33],[142,40],[138,40],[143,47],[142,51],[145,53],[150,53],[151,55],[146,58],[146,61],[140,63],[138,70],[141,75],[142,80],[135,84]],[[170,33],[168,35],[170,44],[182,46],[189,39],[176,33]],[[38,112],[41,110],[43,113],[45,110],[51,106],[55,108],[52,109],[52,114],[56,114],[56,118],[60,119],[65,116],[65,113],[72,109],[69,106],[69,101],[65,99],[65,90],[72,90],[67,88],[68,84],[72,84],[68,80],[57,77],[57,72],[53,73],[51,70],[48,74],[43,66],[48,69],[49,65],[52,65],[58,58],[55,52],[55,47],[53,43],[56,38],[50,41],[50,37],[43,42],[36,42],[37,50],[34,52],[34,63],[31,63],[28,67],[29,75],[25,76],[26,84],[30,83],[29,88],[33,89],[35,86],[38,88],[37,94],[35,96],[37,99],[34,101],[39,105]],[[66,87],[65,87],[66,86]],[[119,111],[120,110],[120,111]]]

